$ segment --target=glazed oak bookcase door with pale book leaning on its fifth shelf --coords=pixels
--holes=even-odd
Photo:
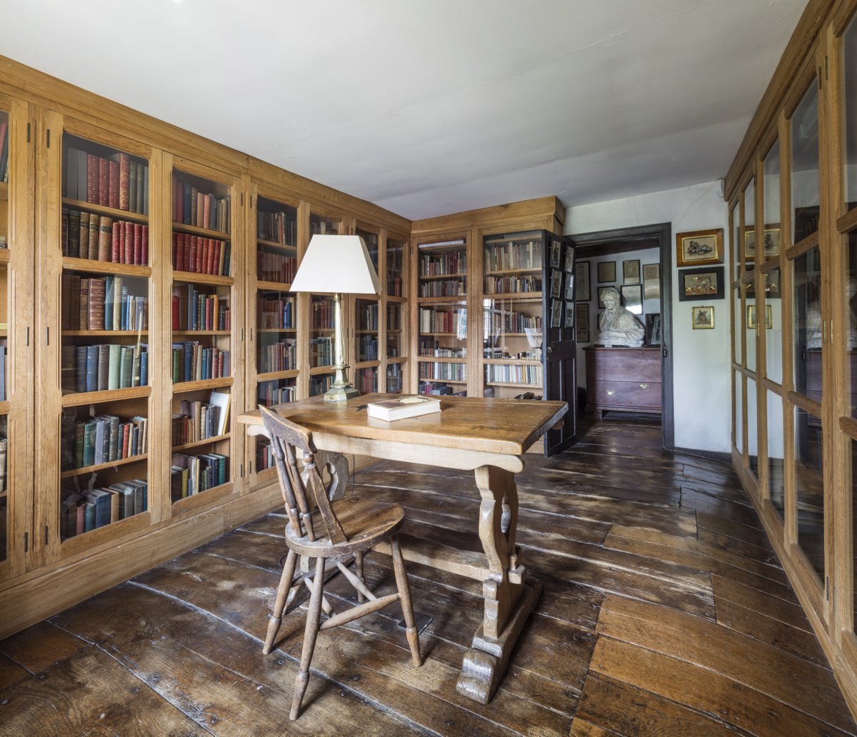
[[[237,494],[244,476],[244,434],[231,421],[243,406],[243,191],[240,180],[224,172],[172,156],[165,163],[165,505],[176,517]]]

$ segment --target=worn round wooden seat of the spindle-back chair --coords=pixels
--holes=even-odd
[[[312,515],[313,530],[318,535],[315,540],[306,536],[297,536],[291,526],[286,525],[285,538],[289,547],[298,555],[311,558],[333,558],[337,555],[351,554],[365,550],[399,530],[405,519],[405,511],[398,504],[349,496],[331,504],[333,513],[339,519],[348,542],[331,542],[325,534],[321,512],[315,510]]]

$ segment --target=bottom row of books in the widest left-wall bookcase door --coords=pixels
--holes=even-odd
[[[148,484],[139,478],[100,488],[67,488],[60,504],[60,536],[68,540],[146,512],[147,508]]]

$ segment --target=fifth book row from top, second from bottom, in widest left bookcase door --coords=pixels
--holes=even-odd
[[[75,422],[72,452],[63,453],[63,463],[70,460],[71,467],[78,469],[144,455],[148,452],[148,425],[147,418],[140,415],[129,420],[116,415],[79,420]]]

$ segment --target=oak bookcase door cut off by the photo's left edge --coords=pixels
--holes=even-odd
[[[0,95],[0,580],[33,566],[32,111]],[[28,141],[27,139],[30,139]],[[15,315],[10,320],[10,315]],[[28,560],[32,558],[33,560]]]

